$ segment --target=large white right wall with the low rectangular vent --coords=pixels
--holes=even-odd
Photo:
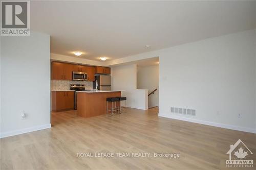
[[[255,37],[249,30],[132,59],[159,56],[160,116],[256,133]],[[171,114],[171,106],[196,109],[196,116]]]

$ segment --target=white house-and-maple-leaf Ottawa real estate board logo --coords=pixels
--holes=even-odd
[[[227,167],[253,167],[253,160],[245,159],[248,154],[252,155],[252,152],[241,139],[238,139],[234,144],[230,144],[230,149],[226,154],[229,154],[229,160],[226,160]]]

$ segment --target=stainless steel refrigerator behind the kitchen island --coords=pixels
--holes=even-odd
[[[98,90],[111,90],[111,76],[95,76],[95,81],[93,82],[93,89],[96,88],[96,80],[98,81]]]

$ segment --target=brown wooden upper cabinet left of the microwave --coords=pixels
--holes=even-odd
[[[53,80],[72,80],[73,64],[52,62]]]

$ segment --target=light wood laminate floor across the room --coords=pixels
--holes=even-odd
[[[255,169],[256,134],[157,116],[157,109],[82,118],[53,112],[52,128],[2,138],[1,169]],[[254,167],[228,168],[241,139]],[[154,153],[179,153],[179,158]],[[150,153],[152,157],[77,157],[77,153]],[[82,156],[82,155],[81,155]],[[126,155],[129,156],[129,155]]]

